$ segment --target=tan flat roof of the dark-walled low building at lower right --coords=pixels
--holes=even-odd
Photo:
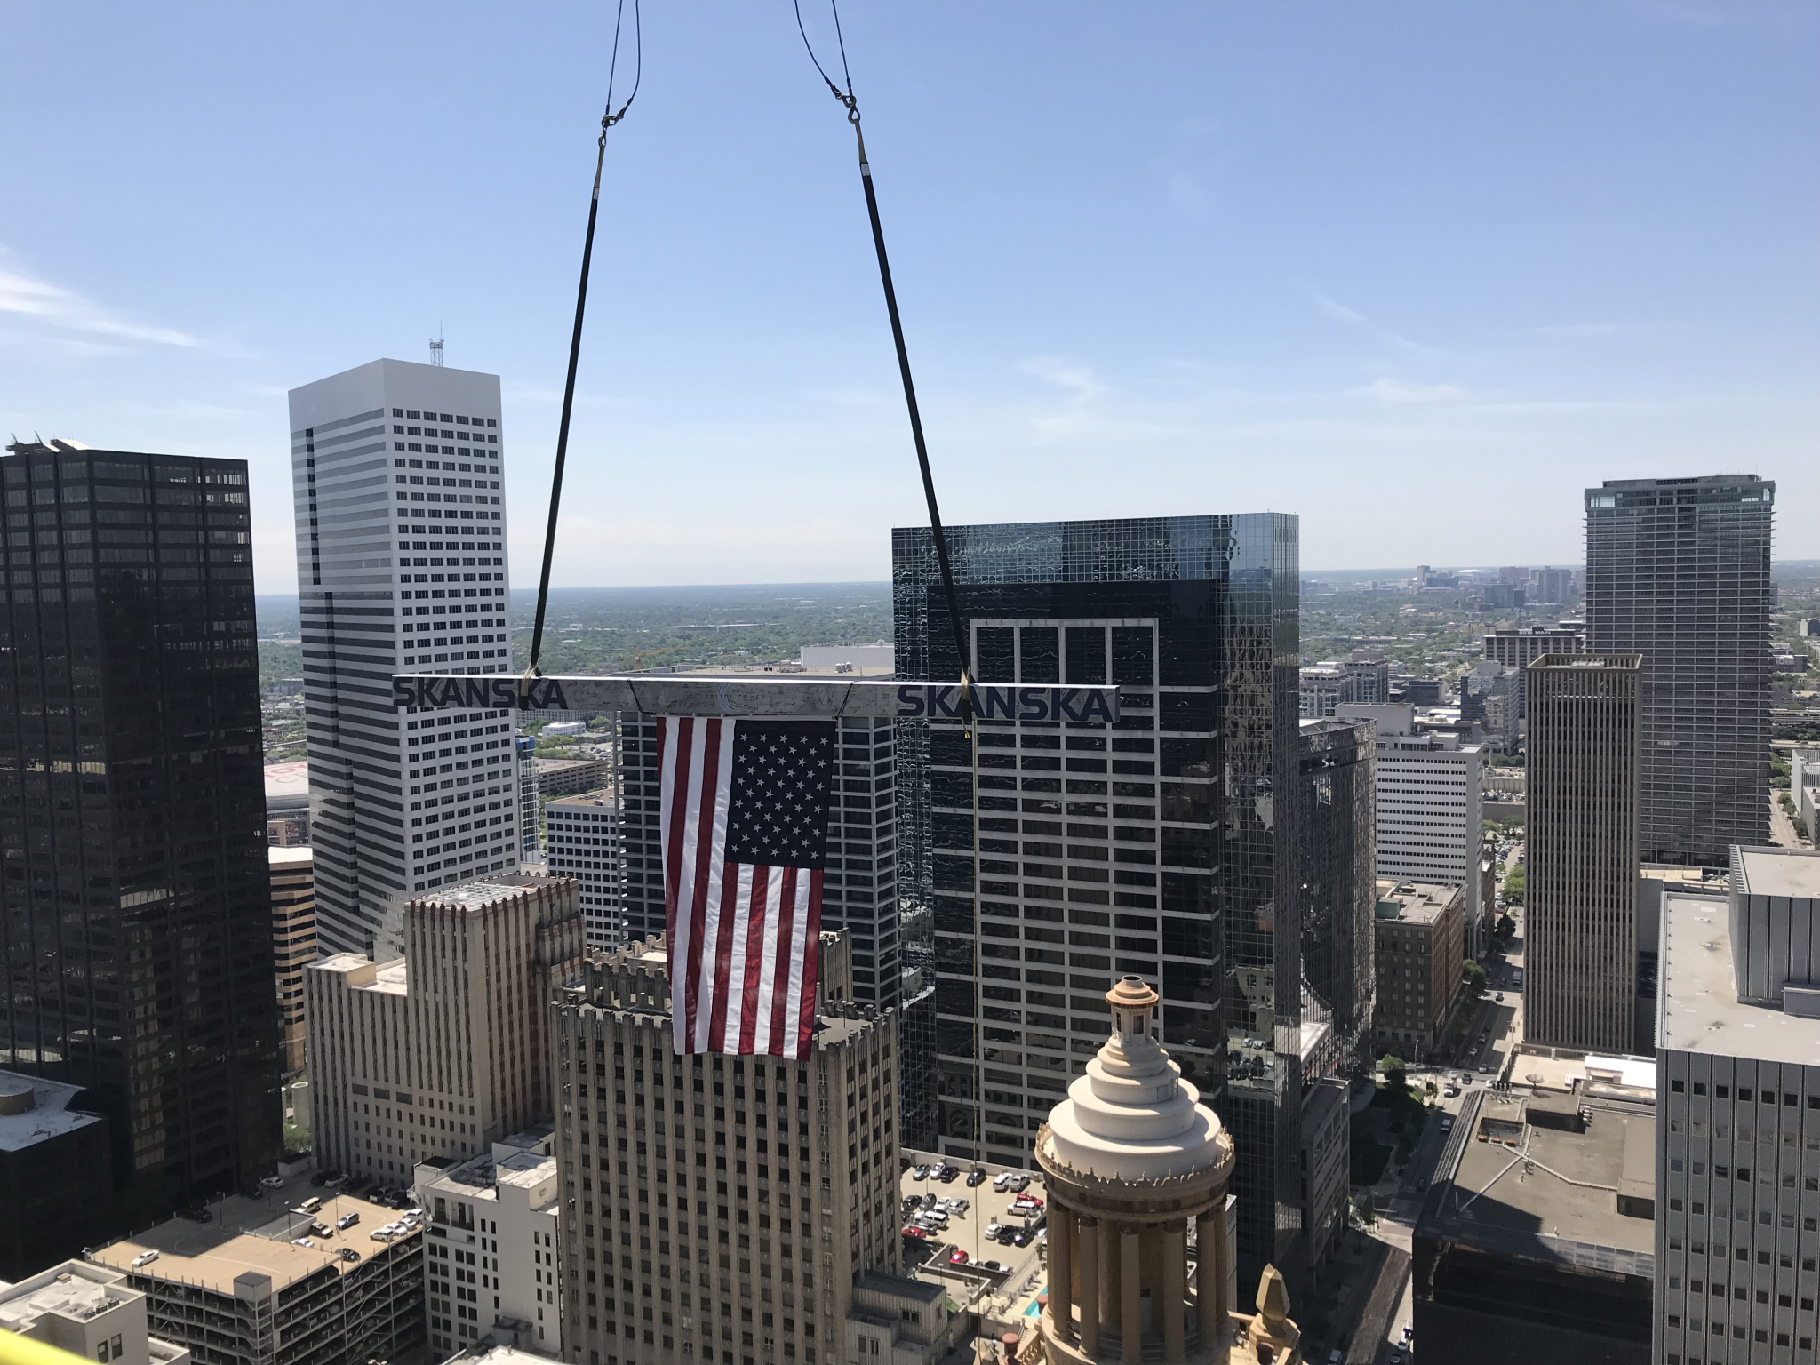
[[[1653,1116],[1594,1101],[1585,1132],[1523,1121],[1516,1147],[1507,1147],[1480,1141],[1478,1125],[1520,1121],[1531,1101],[1498,1105],[1483,1092],[1476,1099],[1454,1128],[1451,1147],[1460,1150],[1458,1167],[1449,1172],[1443,1156],[1418,1234],[1516,1254],[1529,1247],[1554,1259],[1622,1272],[1638,1272],[1636,1258],[1654,1265],[1654,1219],[1618,1212],[1620,1183],[1638,1178],[1634,1156],[1633,1170],[1625,1170],[1625,1147],[1629,1143],[1633,1154],[1653,1148]],[[1633,1130],[1638,1130],[1634,1138]],[[1653,1170],[1649,1174],[1653,1178]]]

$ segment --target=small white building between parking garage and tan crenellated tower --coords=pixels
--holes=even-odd
[[[437,1360],[479,1341],[562,1356],[555,1130],[542,1123],[484,1156],[417,1167],[430,1219],[424,1310]]]

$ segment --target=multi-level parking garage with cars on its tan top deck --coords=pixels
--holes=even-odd
[[[424,1345],[424,1238],[391,1219],[297,1178],[269,1199],[233,1196],[207,1223],[175,1218],[87,1259],[126,1276],[146,1296],[147,1329],[197,1365],[399,1360]]]

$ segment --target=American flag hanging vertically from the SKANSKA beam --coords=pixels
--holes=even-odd
[[[677,1052],[808,1052],[834,748],[834,721],[659,717]]]

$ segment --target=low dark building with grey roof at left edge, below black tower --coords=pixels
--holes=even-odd
[[[0,1072],[0,1279],[24,1279],[106,1236],[113,1152],[80,1087]]]

